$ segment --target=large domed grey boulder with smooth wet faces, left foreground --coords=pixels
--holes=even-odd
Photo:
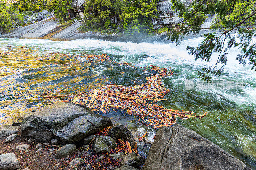
[[[21,123],[21,135],[34,137],[41,142],[49,142],[54,137],[74,143],[111,125],[108,117],[95,114],[87,107],[58,102],[39,107],[26,116]]]

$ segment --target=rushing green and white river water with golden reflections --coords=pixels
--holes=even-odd
[[[239,50],[234,48],[229,51],[223,75],[213,78],[214,86],[201,82],[197,72],[206,63],[195,61],[186,51],[187,45],[196,46],[200,42],[201,38],[195,38],[175,46],[93,39],[61,42],[0,38],[0,53],[5,51],[0,55],[0,124],[19,120],[34,107],[45,105],[40,94],[48,90],[61,90],[60,94],[69,95],[109,82],[133,86],[145,81],[146,71],[104,62],[87,63],[79,56],[80,53],[104,53],[119,63],[171,67],[175,74],[163,78],[165,88],[170,89],[165,96],[168,100],[160,104],[198,114],[207,111],[203,119],[178,123],[256,168],[256,73],[250,66],[238,64],[235,56]],[[55,52],[68,56],[49,54]],[[214,63],[216,57],[207,64]],[[134,79],[136,81],[131,81]],[[194,83],[192,89],[185,86],[188,81],[190,85]]]

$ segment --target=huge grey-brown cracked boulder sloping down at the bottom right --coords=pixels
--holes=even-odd
[[[181,125],[161,127],[143,170],[225,169],[248,170],[242,161]]]

